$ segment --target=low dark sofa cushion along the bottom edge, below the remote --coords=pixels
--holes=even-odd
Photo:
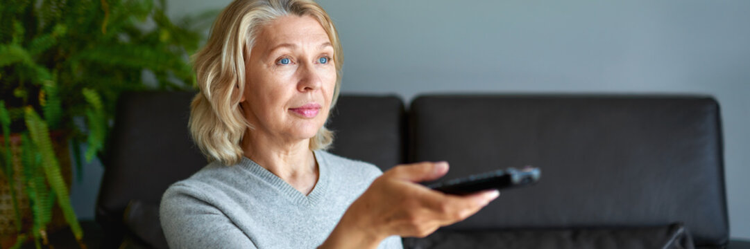
[[[440,230],[424,239],[405,238],[404,248],[692,249],[682,224],[659,227],[556,230]]]

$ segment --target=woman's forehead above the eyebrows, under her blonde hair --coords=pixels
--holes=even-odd
[[[330,42],[326,30],[312,16],[281,16],[260,28],[255,47],[270,49],[279,44],[320,46]]]

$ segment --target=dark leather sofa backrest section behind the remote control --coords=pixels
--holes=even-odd
[[[683,222],[696,245],[727,242],[721,124],[709,97],[420,96],[409,124],[410,161],[448,161],[446,179],[541,168],[538,184],[502,191],[444,230]]]

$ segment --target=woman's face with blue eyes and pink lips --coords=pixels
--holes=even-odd
[[[336,84],[333,53],[328,34],[311,16],[283,16],[260,29],[241,99],[254,133],[284,141],[317,133]]]

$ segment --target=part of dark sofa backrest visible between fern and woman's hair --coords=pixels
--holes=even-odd
[[[193,96],[133,92],[118,100],[95,214],[104,230],[103,248],[119,247],[130,201],[158,205],[169,185],[206,165],[187,131]]]

